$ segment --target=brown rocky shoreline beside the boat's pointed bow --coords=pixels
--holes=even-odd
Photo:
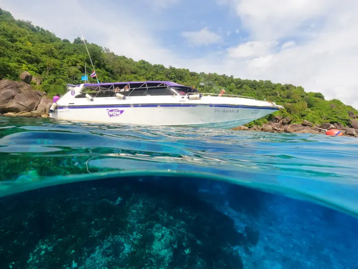
[[[336,129],[342,132],[343,135],[358,137],[358,115],[349,113],[352,118],[350,127],[344,127],[341,123],[325,123],[322,125],[313,125],[308,121],[303,121],[302,124],[291,124],[290,117],[283,118],[277,115],[268,124],[263,124],[262,127],[254,125],[251,128],[246,126],[239,126],[232,130],[234,131],[254,131],[267,133],[289,133],[289,134],[326,134],[327,131]]]

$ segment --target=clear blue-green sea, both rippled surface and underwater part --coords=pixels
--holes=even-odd
[[[0,268],[358,269],[358,139],[0,116]]]

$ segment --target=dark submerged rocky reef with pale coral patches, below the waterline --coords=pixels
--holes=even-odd
[[[183,192],[181,178],[168,179],[171,186],[123,179],[120,188],[113,180],[3,199],[0,267],[242,269],[233,247],[257,244],[257,232],[238,232],[231,218]]]

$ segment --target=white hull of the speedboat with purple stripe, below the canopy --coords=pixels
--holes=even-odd
[[[278,110],[266,101],[203,96],[147,96],[126,100],[112,98],[61,99],[51,118],[106,124],[206,127],[232,129]]]

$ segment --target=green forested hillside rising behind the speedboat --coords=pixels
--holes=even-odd
[[[358,113],[339,100],[325,100],[321,93],[306,93],[300,86],[166,68],[115,55],[96,44],[89,43],[88,48],[100,82],[171,80],[183,85],[195,85],[199,92],[211,93],[219,93],[221,88],[225,88],[228,94],[266,98],[284,105],[288,113],[315,124],[340,122],[347,125],[351,119],[348,111]],[[85,63],[89,75],[89,57],[79,37],[73,42],[60,39],[30,21],[15,20],[9,12],[0,9],[0,79],[19,80],[19,74],[28,71],[42,82],[33,87],[45,90],[51,96],[55,92],[63,93],[67,83],[81,83]],[[96,80],[90,79],[90,82],[95,83]],[[261,119],[255,124],[266,120]]]

